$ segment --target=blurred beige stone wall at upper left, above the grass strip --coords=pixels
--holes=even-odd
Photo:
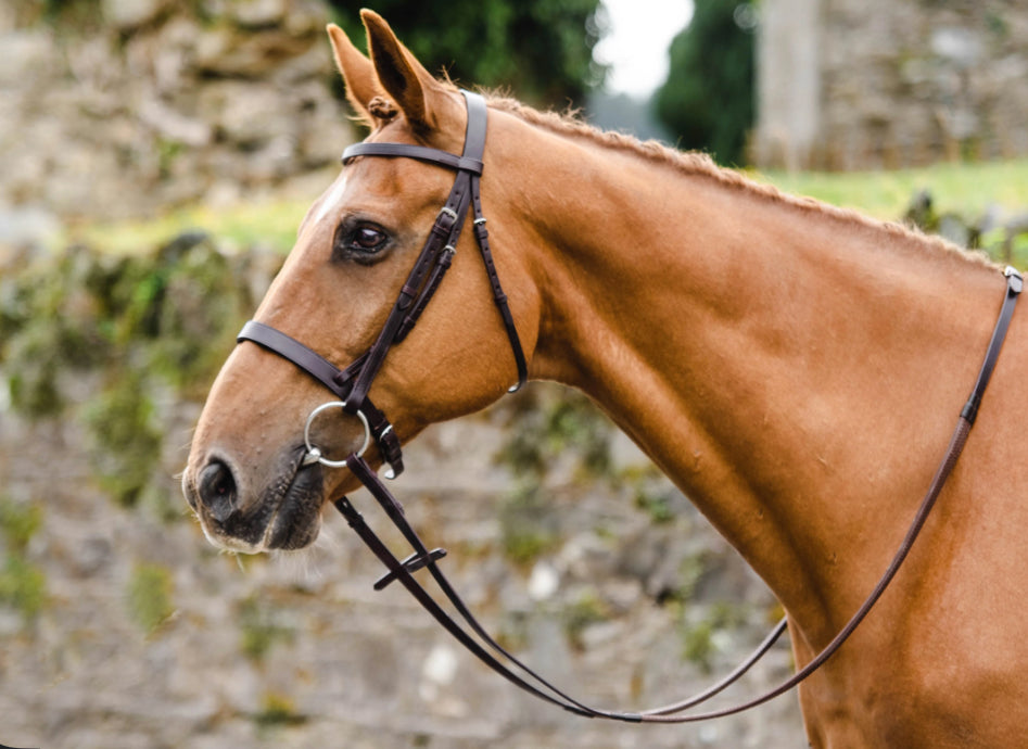
[[[85,20],[0,5],[0,219],[231,201],[353,139],[319,0],[78,4]]]

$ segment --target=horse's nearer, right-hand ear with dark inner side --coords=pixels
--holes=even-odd
[[[430,98],[439,82],[399,42],[382,16],[363,10],[360,18],[368,33],[371,64],[382,88],[403,111],[411,128],[421,132],[432,129],[435,122]]]

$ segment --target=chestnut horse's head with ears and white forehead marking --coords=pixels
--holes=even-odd
[[[382,18],[369,11],[363,18],[370,59],[339,27],[329,26],[329,36],[347,99],[371,128],[365,142],[460,154],[465,98],[429,74]],[[358,155],[346,162],[303,219],[254,316],[340,368],[380,337],[454,186],[454,170],[431,161]],[[491,210],[508,202],[499,190],[482,182]],[[508,250],[526,239],[516,236],[504,213],[491,211],[490,230]],[[417,329],[388,347],[375,372],[369,396],[403,442],[429,423],[482,408],[518,380],[473,233],[462,231],[455,241],[445,283]],[[509,252],[497,265],[530,351],[538,313],[524,282],[528,270]],[[314,541],[323,504],[357,482],[350,471],[307,459],[310,443],[339,461],[366,437],[363,412],[329,408],[309,418],[330,399],[322,383],[265,346],[244,340],[236,347],[212,388],[182,479],[213,543],[255,553]],[[383,452],[372,447],[370,462],[382,462]]]

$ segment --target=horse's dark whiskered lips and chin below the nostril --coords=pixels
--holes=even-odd
[[[253,509],[233,513],[204,535],[215,546],[241,554],[295,550],[309,546],[321,530],[323,481],[321,467],[303,466],[292,478],[271,484]]]

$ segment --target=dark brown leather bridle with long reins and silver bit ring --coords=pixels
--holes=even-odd
[[[440,548],[429,549],[421,537],[407,522],[404,508],[379,479],[375,470],[364,459],[364,452],[373,439],[383,461],[389,464],[386,478],[395,478],[403,470],[403,458],[399,441],[389,420],[368,397],[368,392],[375,376],[380,370],[389,350],[403,341],[418,321],[426,305],[439,288],[446,270],[449,268],[456,252],[465,219],[469,210],[474,215],[473,232],[485,265],[486,275],[493,292],[493,299],[503,319],[504,328],[510,341],[515,364],[518,372],[518,383],[510,391],[518,390],[528,379],[528,366],[524,353],[518,339],[513,317],[507,304],[499,283],[499,277],[493,264],[488,246],[488,232],[485,229],[485,218],[482,215],[479,180],[483,169],[483,154],[485,150],[485,124],[487,110],[484,99],[470,91],[461,91],[468,107],[468,125],[465,136],[464,153],[455,154],[419,145],[405,143],[357,143],[343,152],[344,164],[358,156],[383,156],[415,158],[457,173],[454,187],[444,207],[440,211],[414,268],[394,304],[386,321],[371,347],[345,369],[340,369],[322,356],[308,348],[299,341],[261,322],[251,320],[243,326],[238,342],[251,341],[264,348],[292,361],[318,382],[328,388],[339,401],[322,404],[307,418],[304,430],[304,441],[307,453],[303,465],[319,462],[326,467],[348,468],[354,475],[371,493],[389,519],[395,524],[414,553],[406,559],[397,559],[385,544],[375,534],[365,522],[364,517],[345,496],[334,502],[337,509],[346,518],[351,528],[360,539],[385,566],[388,572],[375,583],[375,589],[381,591],[392,582],[399,582],[417,601],[431,614],[447,632],[461,645],[470,650],[479,660],[500,676],[534,695],[535,697],[556,704],[569,712],[586,718],[599,718],[632,723],[691,723],[714,718],[732,715],[762,704],[797,686],[828,660],[854,630],[864,620],[872,607],[881,597],[886,587],[896,576],[900,566],[906,558],[914,541],[925,524],[932,506],[947,479],[956,465],[956,460],[964,448],[967,436],[978,414],[986,386],[992,376],[1000,350],[1006,337],[1006,331],[1014,314],[1017,297],[1021,293],[1024,282],[1020,275],[1013,268],[1004,271],[1006,277],[1006,294],[1000,310],[999,319],[992,332],[992,339],[986,353],[985,361],[975,382],[970,397],[961,411],[956,429],[950,440],[949,447],[939,465],[917,512],[911,522],[910,529],[900,545],[899,550],[889,563],[878,584],[867,596],[850,621],[839,631],[835,638],[803,669],[796,672],[778,686],[769,691],[734,707],[712,710],[700,713],[682,712],[697,707],[741,677],[771,647],[775,644],[787,625],[783,619],[771,634],[757,649],[732,673],[700,694],[672,704],[645,710],[642,712],[618,712],[593,708],[569,696],[549,681],[543,678],[534,670],[511,655],[500,646],[472,615],[464,600],[450,585],[436,563],[446,551]],[[312,422],[327,408],[338,407],[353,414],[360,419],[365,427],[364,445],[345,460],[329,460],[310,443],[309,431]],[[414,576],[418,570],[427,568],[436,585],[445,595],[449,605],[456,610],[455,619],[435,601],[420,582]],[[460,621],[458,621],[458,619]],[[462,622],[462,623],[461,623]]]

